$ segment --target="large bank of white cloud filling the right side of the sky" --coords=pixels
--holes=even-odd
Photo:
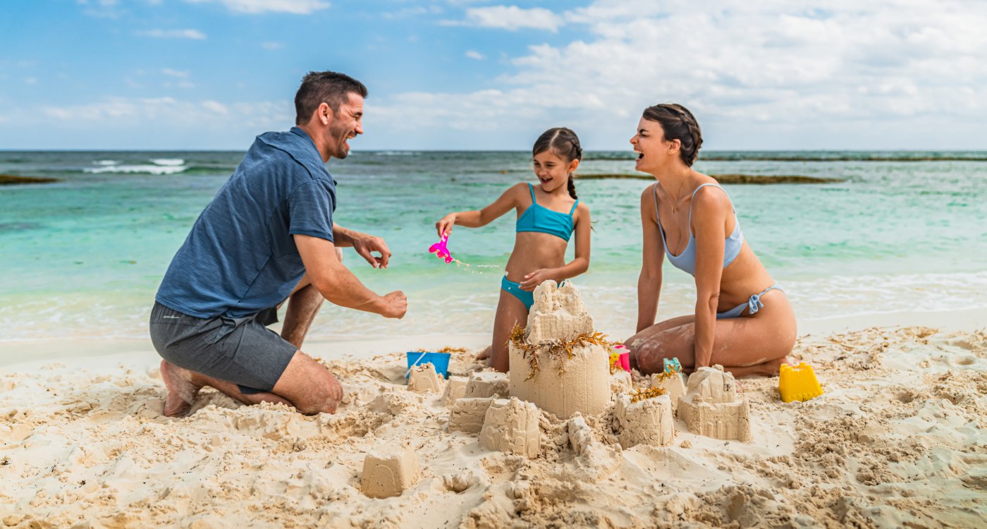
[[[814,6],[598,0],[559,16],[584,30],[580,38],[531,46],[482,90],[401,94],[376,110],[397,127],[496,131],[495,148],[523,146],[504,134],[558,123],[619,147],[641,111],[661,102],[697,113],[708,145],[720,148],[925,148],[934,128],[935,148],[983,146],[959,131],[987,120],[987,4]],[[516,29],[507,19],[472,20]]]

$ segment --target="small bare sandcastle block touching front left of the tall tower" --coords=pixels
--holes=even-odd
[[[538,408],[516,398],[491,403],[480,431],[480,445],[516,455],[536,457],[541,452]]]

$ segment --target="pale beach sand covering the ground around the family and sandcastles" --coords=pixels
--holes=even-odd
[[[457,345],[458,343],[448,343]],[[379,349],[398,350],[398,349]],[[749,443],[689,433],[623,449],[612,409],[539,417],[536,457],[449,432],[404,352],[326,362],[335,416],[212,391],[161,416],[153,354],[0,368],[8,527],[975,527],[987,520],[987,333],[871,329],[799,340],[823,396],[737,381]],[[457,376],[479,366],[453,355]],[[642,382],[641,380],[638,381]],[[369,453],[415,456],[401,495],[362,490]],[[390,451],[390,452],[388,452]],[[536,453],[532,450],[528,453]]]

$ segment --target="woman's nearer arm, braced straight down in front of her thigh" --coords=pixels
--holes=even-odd
[[[719,189],[703,189],[692,200],[696,233],[696,346],[695,367],[708,367],[717,335],[717,307],[725,252],[726,212],[730,202]]]

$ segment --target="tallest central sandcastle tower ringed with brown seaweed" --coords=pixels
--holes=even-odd
[[[592,416],[610,404],[609,354],[601,344],[572,343],[592,335],[593,319],[571,282],[535,288],[522,343],[510,342],[510,396],[567,418]],[[567,350],[569,347],[569,350]],[[532,355],[537,367],[532,367]]]

